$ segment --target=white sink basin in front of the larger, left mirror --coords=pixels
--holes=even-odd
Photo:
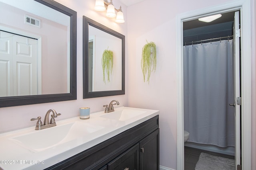
[[[40,152],[103,128],[76,121],[13,137],[10,140],[33,152]]]

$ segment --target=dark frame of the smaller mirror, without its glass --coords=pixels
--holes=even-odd
[[[89,75],[88,75],[88,40],[89,40],[89,25],[109,33],[122,40],[122,90],[111,90],[101,92],[89,92]],[[104,96],[115,96],[125,94],[125,36],[94,21],[86,16],[83,16],[83,98],[97,98]]]

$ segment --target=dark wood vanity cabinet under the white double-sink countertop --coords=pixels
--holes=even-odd
[[[46,170],[159,170],[159,115]]]

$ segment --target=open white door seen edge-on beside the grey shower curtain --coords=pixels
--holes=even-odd
[[[239,11],[235,12],[233,27],[234,43],[234,107],[235,107],[235,160],[240,165],[240,105],[237,98],[240,97],[240,25]]]

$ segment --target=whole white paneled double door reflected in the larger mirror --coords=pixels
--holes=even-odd
[[[1,96],[26,96],[38,94],[37,39],[0,31],[1,42],[0,86],[7,89]],[[3,67],[2,67],[3,66]],[[12,82],[12,83],[11,83]],[[3,88],[3,89],[4,89]]]

